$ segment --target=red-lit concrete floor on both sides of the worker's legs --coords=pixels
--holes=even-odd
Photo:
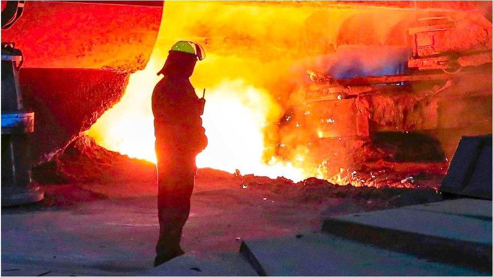
[[[90,195],[98,191],[97,186],[87,190],[83,185],[73,184],[44,189],[64,194],[57,199],[70,198],[67,196],[70,193]],[[144,188],[135,196],[103,194],[106,199],[83,199],[79,203],[65,202],[51,207],[3,208],[2,270],[8,271],[2,274],[33,275],[25,270],[34,270],[37,272],[34,275],[47,271],[131,275],[150,269],[159,229],[156,197],[152,194]],[[51,197],[48,193],[46,201]],[[330,206],[336,211],[364,210],[343,202],[326,199],[303,205],[281,201],[268,191],[197,189],[192,196],[182,245],[188,254],[199,257],[237,253],[240,240],[245,238],[320,229],[320,215]]]

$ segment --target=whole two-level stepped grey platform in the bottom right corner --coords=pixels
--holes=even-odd
[[[457,199],[327,217],[322,232],[243,241],[259,275],[491,275],[493,204]]]

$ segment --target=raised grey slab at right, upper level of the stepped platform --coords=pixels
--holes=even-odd
[[[324,219],[322,230],[491,273],[492,202],[459,199]]]

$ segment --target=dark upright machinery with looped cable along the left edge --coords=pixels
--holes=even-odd
[[[2,11],[2,29],[21,16],[24,1],[8,1]],[[2,42],[2,206],[37,202],[44,193],[31,183],[29,133],[34,113],[24,109],[19,86],[22,52],[13,42]]]

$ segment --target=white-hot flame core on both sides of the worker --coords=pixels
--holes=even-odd
[[[156,162],[156,154],[151,94],[160,79],[155,77],[155,61],[153,57],[143,71],[130,76],[121,101],[87,131],[108,150],[152,162]],[[197,94],[200,91],[196,89]],[[206,100],[202,118],[209,144],[196,158],[199,168],[282,176],[297,182],[307,178],[303,169],[289,161],[275,156],[265,159],[265,129],[282,116],[282,108],[266,89],[243,79],[224,79],[207,90]],[[299,155],[297,160],[304,157]]]

